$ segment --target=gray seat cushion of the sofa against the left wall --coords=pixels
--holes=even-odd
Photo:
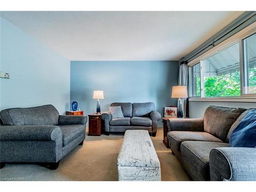
[[[86,127],[84,125],[59,125],[62,131],[63,146],[68,145],[82,134],[86,134]]]

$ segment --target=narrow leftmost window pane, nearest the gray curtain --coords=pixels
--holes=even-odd
[[[190,67],[190,97],[201,96],[201,77],[200,77],[200,63]]]

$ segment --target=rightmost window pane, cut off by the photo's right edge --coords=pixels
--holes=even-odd
[[[256,33],[243,39],[243,93],[256,94]]]

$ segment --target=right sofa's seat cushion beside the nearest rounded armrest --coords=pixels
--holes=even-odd
[[[201,176],[200,180],[210,180],[209,156],[213,148],[229,147],[228,143],[184,141],[180,151],[183,161],[187,161],[194,171]]]

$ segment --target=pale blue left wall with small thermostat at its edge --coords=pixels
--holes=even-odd
[[[70,108],[70,60],[48,49],[1,18],[0,110],[53,104],[60,114]]]

